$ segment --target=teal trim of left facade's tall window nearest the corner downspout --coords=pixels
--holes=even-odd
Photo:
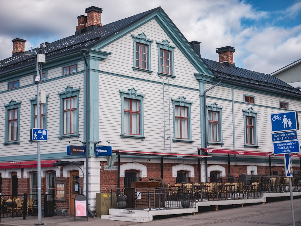
[[[60,96],[60,135],[57,137],[60,140],[63,138],[71,138],[71,137],[79,137],[79,130],[78,130],[78,121],[79,121],[79,88],[73,89],[70,85],[68,85],[65,88],[65,91],[57,93]],[[77,109],[76,109],[76,120],[77,120],[77,125],[76,125],[76,133],[72,134],[66,134],[64,135],[64,99],[65,98],[70,98],[70,97],[76,97],[77,99]]]

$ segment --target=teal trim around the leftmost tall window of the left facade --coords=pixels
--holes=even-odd
[[[8,104],[4,104],[5,107],[5,136],[4,136],[4,146],[8,144],[20,144],[20,107],[21,101],[11,100]],[[18,131],[17,131],[17,140],[8,141],[8,111],[12,109],[18,109]]]

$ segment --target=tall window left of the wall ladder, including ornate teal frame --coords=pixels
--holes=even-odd
[[[135,88],[129,91],[119,90],[121,96],[121,134],[123,138],[138,138],[144,140],[143,99],[145,94],[139,94]]]

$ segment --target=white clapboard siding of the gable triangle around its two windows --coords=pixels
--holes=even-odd
[[[152,29],[149,29],[149,23],[152,24]],[[154,30],[155,29],[155,30]],[[149,75],[148,73],[141,71],[133,71],[133,39],[131,34],[138,35],[142,32],[147,35],[148,39],[154,40],[151,45],[151,70],[153,73]],[[167,39],[170,42],[170,45],[174,45],[171,42],[171,39],[167,36],[167,34],[163,31],[163,29],[157,24],[155,20],[144,24],[138,29],[134,30],[130,34],[120,38],[119,40],[113,42],[112,44],[106,46],[102,50],[113,52],[107,60],[100,61],[100,69],[111,72],[122,74],[126,76],[131,76],[135,78],[141,79],[150,79],[154,81],[160,81],[161,78],[158,77],[158,48],[156,41],[162,42]],[[199,88],[198,82],[195,79],[194,73],[197,73],[197,70],[192,66],[192,64],[188,61],[188,59],[182,54],[182,52],[175,48],[174,50],[174,69],[176,76],[176,83],[181,84],[183,86]],[[169,79],[170,82],[175,82],[173,79]],[[173,81],[172,81],[173,80]]]

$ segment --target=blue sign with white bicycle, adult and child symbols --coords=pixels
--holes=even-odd
[[[272,132],[284,132],[299,129],[296,111],[271,114]]]

